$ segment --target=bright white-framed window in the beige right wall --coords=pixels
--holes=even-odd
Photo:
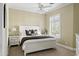
[[[50,17],[50,34],[60,37],[60,15],[54,15]]]

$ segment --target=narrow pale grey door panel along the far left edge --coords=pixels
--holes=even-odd
[[[0,56],[2,55],[2,43],[3,43],[3,20],[4,20],[4,5],[0,3]]]

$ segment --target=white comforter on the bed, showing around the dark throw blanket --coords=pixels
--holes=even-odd
[[[37,36],[39,36],[39,35],[37,35]],[[48,35],[40,35],[40,36],[48,36]],[[20,37],[20,42],[21,42],[21,40],[22,40],[22,38],[23,37],[32,37],[32,36],[21,36]],[[55,38],[46,38],[46,39],[40,39],[40,40],[37,40],[37,39],[34,39],[34,40],[28,40],[28,41],[25,41],[24,43],[23,43],[23,45],[22,45],[22,50],[26,50],[26,49],[28,49],[28,47],[30,47],[30,45],[32,46],[34,43],[35,44],[38,44],[38,43],[41,43],[41,42],[50,42],[50,44],[51,44],[51,42],[52,41],[55,41],[56,39]]]

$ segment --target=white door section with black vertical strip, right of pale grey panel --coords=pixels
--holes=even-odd
[[[8,6],[3,4],[3,21],[2,21],[2,55],[8,55]]]

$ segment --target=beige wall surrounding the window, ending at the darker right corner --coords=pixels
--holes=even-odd
[[[62,28],[62,38],[58,43],[72,47],[73,48],[73,4],[69,4],[62,8],[53,10],[46,14],[46,27],[49,31],[49,19],[50,16],[61,14],[61,28]]]

